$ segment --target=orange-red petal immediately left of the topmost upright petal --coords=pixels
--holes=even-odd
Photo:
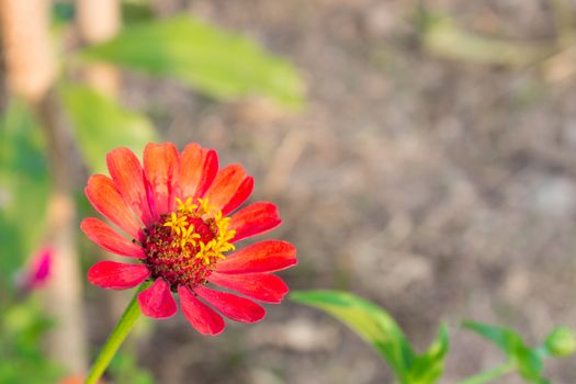
[[[157,217],[150,207],[140,161],[128,148],[116,148],[106,155],[108,170],[122,197],[146,226]],[[151,196],[150,196],[151,197]]]

